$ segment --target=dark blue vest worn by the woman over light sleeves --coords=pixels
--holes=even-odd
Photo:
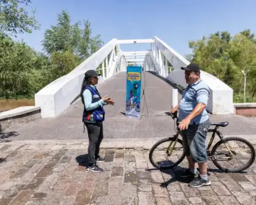
[[[91,91],[92,103],[96,103],[97,101],[102,99],[99,92],[94,90],[94,88],[92,88],[91,86],[86,86],[85,88],[83,88],[83,92],[86,89]],[[83,95],[82,95],[82,99],[83,99]],[[83,102],[84,102],[84,99],[83,99]],[[99,106],[94,110],[86,110],[84,107],[83,119],[82,119],[83,122],[102,123],[104,120],[105,120],[105,110],[103,109],[103,106]]]

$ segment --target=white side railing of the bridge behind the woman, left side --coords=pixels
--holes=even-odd
[[[86,71],[96,70],[101,64],[103,69],[101,70],[102,76],[99,77],[99,83],[112,76],[115,73],[115,59],[117,59],[116,46],[119,48],[118,40],[113,38],[70,73],[59,77],[59,79],[37,92],[35,105],[40,106],[41,117],[56,117],[73,103],[80,94]]]

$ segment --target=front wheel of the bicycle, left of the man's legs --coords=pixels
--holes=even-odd
[[[149,151],[149,160],[156,168],[168,169],[183,161],[185,151],[183,142],[176,137],[168,137],[154,144]]]

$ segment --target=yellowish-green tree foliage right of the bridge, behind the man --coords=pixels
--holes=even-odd
[[[216,32],[201,40],[189,41],[193,54],[187,56],[203,71],[213,74],[234,90],[234,101],[243,102],[244,74],[247,74],[246,101],[252,102],[256,87],[256,41],[250,30],[233,37],[227,32]],[[242,100],[241,100],[242,99]]]

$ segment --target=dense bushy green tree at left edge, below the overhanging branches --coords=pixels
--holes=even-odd
[[[40,89],[42,77],[35,69],[35,51],[23,41],[0,38],[0,96],[31,98]]]

